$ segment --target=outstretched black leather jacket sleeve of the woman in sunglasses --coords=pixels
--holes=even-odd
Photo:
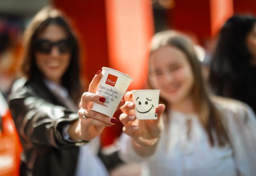
[[[63,127],[77,122],[76,114],[66,112],[60,106],[33,101],[25,106],[24,100],[14,99],[10,101],[10,110],[16,128],[21,137],[32,143],[53,146],[55,148],[74,148],[79,140],[70,142],[63,139]],[[39,104],[40,103],[40,104]],[[84,141],[82,141],[84,142]],[[81,143],[82,145],[82,142]]]

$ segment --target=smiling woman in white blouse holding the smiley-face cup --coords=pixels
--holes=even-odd
[[[157,120],[137,120],[126,92],[120,157],[142,163],[143,176],[255,175],[255,114],[242,102],[210,96],[192,42],[156,34],[148,66],[150,88],[161,90],[165,109],[158,106]]]

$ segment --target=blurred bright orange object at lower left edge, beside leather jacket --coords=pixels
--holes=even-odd
[[[1,130],[0,175],[18,176],[20,175],[20,154],[22,147],[9,110],[2,116]]]

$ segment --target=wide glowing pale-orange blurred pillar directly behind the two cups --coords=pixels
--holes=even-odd
[[[148,0],[106,0],[109,65],[133,78],[131,89],[147,79],[147,52],[154,34]]]

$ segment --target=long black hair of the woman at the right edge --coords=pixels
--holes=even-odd
[[[214,93],[234,98],[235,85],[244,79],[244,71],[251,67],[252,54],[246,45],[246,36],[255,24],[254,16],[235,15],[220,30],[209,73]]]

